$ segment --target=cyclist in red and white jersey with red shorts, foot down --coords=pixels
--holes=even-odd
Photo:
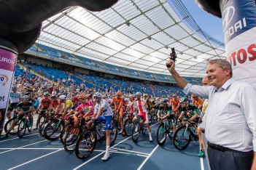
[[[136,110],[138,110],[138,112],[139,112],[139,114],[137,116],[142,116],[142,118],[143,118],[142,121],[144,121],[144,124],[146,124],[147,131],[150,135],[150,142],[152,142],[153,139],[152,139],[152,135],[151,135],[149,118],[147,115],[147,103],[145,103],[144,100],[141,100],[141,92],[136,92],[136,100],[134,101],[134,104],[136,105]],[[135,116],[133,118],[133,122],[136,121],[137,116]]]

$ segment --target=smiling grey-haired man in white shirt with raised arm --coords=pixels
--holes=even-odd
[[[206,76],[212,86],[195,86],[179,76],[173,60],[169,72],[186,93],[209,99],[205,134],[209,162],[215,169],[256,169],[256,91],[232,78],[227,60],[210,60]]]

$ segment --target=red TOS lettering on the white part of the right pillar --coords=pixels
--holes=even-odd
[[[244,64],[248,60],[249,62],[256,60],[256,44],[250,44],[246,48],[238,49],[228,56],[228,61],[232,66]]]

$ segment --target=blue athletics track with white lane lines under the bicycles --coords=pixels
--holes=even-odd
[[[22,139],[9,135],[0,140],[0,170],[3,169],[208,169],[206,158],[199,158],[198,142],[192,141],[185,150],[177,150],[171,139],[163,146],[156,141],[158,124],[152,124],[153,142],[148,134],[134,143],[131,137],[117,135],[108,161],[101,161],[105,144],[97,142],[94,152],[84,160],[75,153],[66,153],[60,140],[48,141],[38,131],[26,131]]]

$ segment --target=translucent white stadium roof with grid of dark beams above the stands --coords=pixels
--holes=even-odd
[[[174,47],[177,71],[182,76],[202,77],[206,61],[225,58],[225,49],[210,42],[212,37],[205,39],[193,31],[185,20],[164,0],[120,0],[102,12],[72,7],[44,21],[37,43],[124,68],[168,75],[166,60]]]

